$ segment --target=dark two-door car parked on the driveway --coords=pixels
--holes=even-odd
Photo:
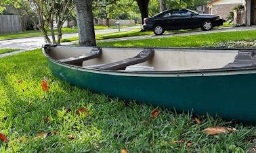
[[[165,30],[180,30],[201,28],[211,30],[214,26],[222,26],[223,20],[220,16],[211,14],[200,14],[190,9],[170,9],[144,18],[143,30],[153,30],[154,34],[163,34]]]

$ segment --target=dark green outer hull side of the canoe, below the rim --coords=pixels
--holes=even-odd
[[[177,111],[256,123],[255,69],[126,73],[84,69],[48,60],[58,78],[94,92]]]

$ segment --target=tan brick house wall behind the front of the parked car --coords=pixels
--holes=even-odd
[[[221,16],[223,19],[226,19],[230,14],[230,11],[233,11],[234,7],[239,5],[237,4],[221,4],[221,5],[213,5],[212,12],[215,15]]]

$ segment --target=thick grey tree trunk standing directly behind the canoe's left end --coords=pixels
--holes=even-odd
[[[75,0],[79,44],[96,46],[93,24],[92,0]]]

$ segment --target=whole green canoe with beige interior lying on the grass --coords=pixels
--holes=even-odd
[[[253,49],[43,46],[54,75],[94,92],[256,123]]]

